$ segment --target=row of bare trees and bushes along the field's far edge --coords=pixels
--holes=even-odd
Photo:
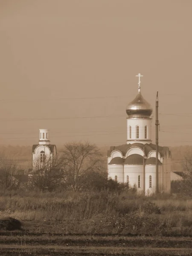
[[[192,158],[185,159],[183,180],[177,185],[177,192],[192,196]],[[1,189],[38,189],[40,191],[90,189],[133,189],[128,184],[119,184],[108,179],[107,162],[100,149],[92,143],[67,143],[53,159],[40,156],[35,168],[29,172],[28,182],[19,180],[22,172],[15,160],[0,159]],[[24,172],[24,171],[23,171]],[[27,176],[27,175],[26,175]]]

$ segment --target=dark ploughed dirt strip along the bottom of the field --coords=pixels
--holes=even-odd
[[[0,231],[0,255],[192,255],[192,236],[67,234],[54,233],[48,223],[34,225],[26,224],[24,231]]]

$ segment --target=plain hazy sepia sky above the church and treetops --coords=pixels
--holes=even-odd
[[[0,144],[126,143],[141,73],[160,145],[192,145],[191,69],[192,0],[0,0]]]

